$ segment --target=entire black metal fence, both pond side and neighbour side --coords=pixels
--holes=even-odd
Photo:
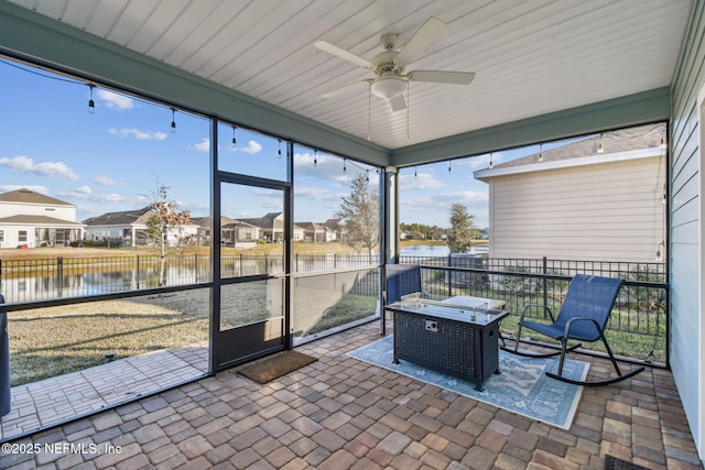
[[[302,255],[293,259],[295,273],[312,273],[297,285],[326,291],[336,276],[317,271],[377,264],[377,255]],[[668,278],[663,263],[626,263],[543,259],[489,259],[479,255],[401,256],[401,263],[423,266],[424,291],[441,295],[470,295],[506,302],[512,315],[502,323],[511,334],[525,304],[542,304],[557,313],[571,277],[577,273],[626,280],[609,323],[619,353],[659,363],[668,362]],[[283,272],[282,256],[225,255],[221,275],[247,276]],[[362,281],[364,280],[364,281]],[[51,300],[107,293],[180,286],[210,281],[207,255],[135,255],[88,259],[0,260],[0,292],[6,302]],[[325,282],[324,282],[325,281]],[[377,296],[375,276],[358,277],[352,294]],[[336,287],[336,288],[337,288]],[[531,315],[543,318],[543,310]]]

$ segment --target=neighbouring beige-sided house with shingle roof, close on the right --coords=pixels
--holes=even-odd
[[[490,256],[657,261],[665,133],[663,123],[605,132],[475,172],[489,184]]]

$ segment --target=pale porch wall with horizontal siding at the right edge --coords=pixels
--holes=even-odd
[[[693,4],[672,88],[670,159],[671,368],[705,461],[705,2]]]

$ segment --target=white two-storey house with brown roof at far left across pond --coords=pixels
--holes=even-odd
[[[77,245],[76,206],[22,188],[0,194],[0,248]]]

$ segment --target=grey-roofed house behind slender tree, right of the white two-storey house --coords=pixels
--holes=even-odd
[[[149,236],[149,221],[155,216],[155,210],[148,206],[135,210],[106,212],[97,217],[91,217],[84,220],[86,225],[86,240],[116,247],[149,244],[152,242]],[[188,236],[196,236],[197,232],[198,225],[192,222],[180,227],[177,230],[169,230],[165,242],[167,245],[174,245],[177,244],[181,239]]]

